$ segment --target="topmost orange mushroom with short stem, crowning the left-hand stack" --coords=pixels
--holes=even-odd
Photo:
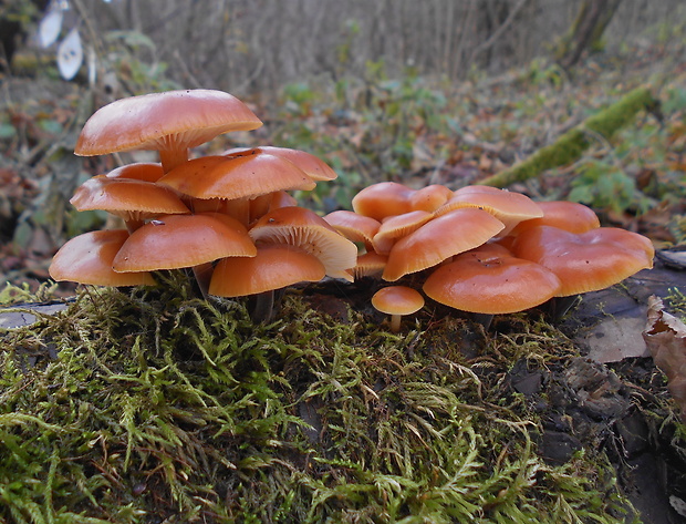
[[[180,90],[117,100],[85,123],[74,153],[156,150],[165,172],[188,157],[188,148],[230,131],[250,131],[262,122],[237,97],[214,90]]]

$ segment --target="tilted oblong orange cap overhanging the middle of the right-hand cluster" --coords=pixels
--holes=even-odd
[[[388,254],[384,280],[436,266],[459,253],[486,243],[502,230],[491,214],[472,207],[455,209],[401,238]]]

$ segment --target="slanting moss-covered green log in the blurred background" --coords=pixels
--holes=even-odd
[[[637,88],[564,133],[553,144],[540,148],[519,164],[480,181],[480,184],[507,187],[517,182],[533,178],[545,169],[570,164],[578,160],[596,141],[597,136],[610,140],[614,133],[634,119],[636,113],[641,110],[649,110],[656,104],[656,99],[647,88]]]

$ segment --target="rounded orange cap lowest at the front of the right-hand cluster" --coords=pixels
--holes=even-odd
[[[523,311],[558,294],[561,284],[552,271],[497,250],[456,256],[426,279],[424,292],[451,308],[486,315]]]

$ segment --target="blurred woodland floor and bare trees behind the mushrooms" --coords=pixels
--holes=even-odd
[[[662,112],[516,187],[571,198],[666,245],[686,237],[683,0],[4,0],[0,7],[0,276],[41,280],[66,237],[105,226],[67,203],[146,153],[73,156],[97,107],[168,89],[228,91],[264,127],[197,154],[274,144],[339,173],[301,202],[350,207],[365,185],[478,183],[637,85]],[[56,41],[39,44],[46,13]],[[53,27],[54,29],[54,27]],[[56,66],[76,31],[73,79]],[[9,39],[11,37],[11,39]]]

